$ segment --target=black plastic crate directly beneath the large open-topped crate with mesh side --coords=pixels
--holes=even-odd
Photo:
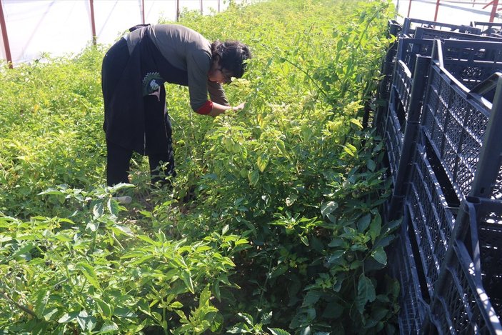
[[[427,159],[426,148],[421,144],[415,147],[404,205],[415,233],[428,293],[432,296],[453,232],[456,208],[451,208],[443,194]]]

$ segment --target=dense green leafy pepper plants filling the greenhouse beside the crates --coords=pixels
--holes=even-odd
[[[106,47],[1,70],[0,329],[6,334],[392,334],[398,283],[364,129],[391,1],[262,1],[186,12],[253,59],[243,111],[190,111],[167,86],[178,175],[106,188]],[[112,196],[129,194],[131,204]]]

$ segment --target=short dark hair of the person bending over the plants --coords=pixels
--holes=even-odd
[[[211,44],[211,53],[213,61],[219,57],[221,68],[236,78],[243,76],[246,71],[246,59],[251,59],[249,47],[239,41],[214,41]]]

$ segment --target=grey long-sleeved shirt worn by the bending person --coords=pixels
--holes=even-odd
[[[198,32],[176,24],[156,24],[136,29],[127,36],[129,54],[141,40],[145,29],[162,56],[169,63],[188,73],[190,105],[194,111],[208,100],[228,106],[221,84],[209,81],[211,69],[211,42]]]

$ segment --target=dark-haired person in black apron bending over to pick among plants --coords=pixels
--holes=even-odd
[[[175,176],[171,121],[164,83],[189,87],[191,108],[217,116],[229,109],[222,84],[241,78],[249,48],[239,41],[211,43],[185,26],[140,25],[111,46],[103,59],[101,88],[106,132],[106,182],[129,183],[133,151],[149,156],[152,182]],[[208,99],[209,98],[209,99]]]

